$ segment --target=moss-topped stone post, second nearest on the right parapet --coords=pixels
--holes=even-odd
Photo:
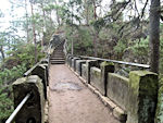
[[[104,87],[104,93],[102,95],[106,96],[106,86],[108,86],[108,73],[114,72],[114,64],[111,62],[102,62],[100,64],[101,69],[101,84]]]

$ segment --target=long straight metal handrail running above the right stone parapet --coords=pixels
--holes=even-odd
[[[139,63],[109,60],[109,59],[101,59],[101,58],[86,57],[86,56],[79,56],[79,58],[91,59],[91,60],[100,60],[100,61],[108,61],[108,62],[113,62],[113,63],[118,63],[118,64],[125,64],[125,65],[131,65],[131,66],[150,69],[150,65],[148,65],[148,64],[139,64]]]

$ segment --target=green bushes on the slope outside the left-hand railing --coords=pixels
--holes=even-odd
[[[38,59],[45,57],[38,47]],[[0,120],[9,118],[13,111],[12,89],[9,86],[18,77],[22,77],[27,69],[35,64],[35,46],[33,44],[20,42],[8,51],[4,60],[4,69],[0,71]],[[7,87],[4,87],[7,86]],[[9,87],[8,87],[9,86]]]

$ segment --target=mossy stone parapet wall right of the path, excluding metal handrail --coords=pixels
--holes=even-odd
[[[86,60],[86,63],[80,64],[82,60],[75,61],[78,75],[82,75],[88,85],[92,85],[101,95],[111,99],[126,112],[127,119],[123,123],[154,123],[158,102],[158,75],[155,73],[131,71],[127,78],[115,74],[114,64],[111,62]],[[74,61],[71,60],[71,62]],[[161,94],[160,100],[162,100]],[[163,109],[161,104],[158,107]],[[158,115],[161,115],[159,108]]]

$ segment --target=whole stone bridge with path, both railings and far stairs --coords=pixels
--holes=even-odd
[[[163,90],[158,75],[142,70],[148,65],[74,57],[65,49],[54,35],[47,58],[13,83],[15,109],[26,99],[16,123],[163,123]],[[139,70],[125,77],[116,64]]]

